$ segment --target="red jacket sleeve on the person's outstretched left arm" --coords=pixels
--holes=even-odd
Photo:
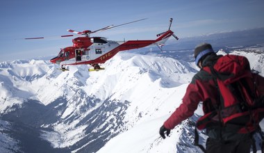
[[[165,128],[173,129],[183,120],[190,118],[197,109],[199,102],[204,102],[204,112],[207,112],[208,107],[213,108],[212,103],[217,103],[217,88],[215,88],[213,77],[205,71],[199,71],[192,78],[192,82],[183,97],[182,104],[165,121]]]

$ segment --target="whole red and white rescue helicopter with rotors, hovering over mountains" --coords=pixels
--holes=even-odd
[[[147,19],[147,18],[145,18]],[[133,22],[139,22],[144,19],[139,19]],[[119,24],[117,26],[124,26],[126,24],[131,24],[133,22],[128,22],[125,24]],[[89,68],[89,72],[91,71],[99,71],[104,70],[104,67],[100,67],[99,64],[105,63],[110,58],[113,58],[119,51],[126,51],[130,49],[138,49],[142,47],[147,47],[149,45],[157,45],[160,49],[163,47],[165,42],[173,36],[176,40],[179,38],[174,35],[174,33],[170,30],[172,26],[172,18],[170,18],[169,29],[163,33],[159,33],[157,35],[156,40],[129,40],[129,41],[113,41],[107,40],[104,37],[90,37],[90,34],[97,33],[99,31],[106,31],[108,29],[113,29],[117,26],[106,26],[102,29],[98,29],[96,31],[74,31],[72,29],[68,29],[67,31],[74,33],[76,35],[83,35],[72,40],[72,47],[65,47],[60,49],[58,56],[52,58],[50,60],[51,63],[59,64],[60,69],[64,71],[68,71],[66,69],[67,65],[92,65],[93,68]],[[71,37],[74,35],[61,35],[60,37]],[[25,38],[26,40],[31,39],[42,39],[40,38]]]

